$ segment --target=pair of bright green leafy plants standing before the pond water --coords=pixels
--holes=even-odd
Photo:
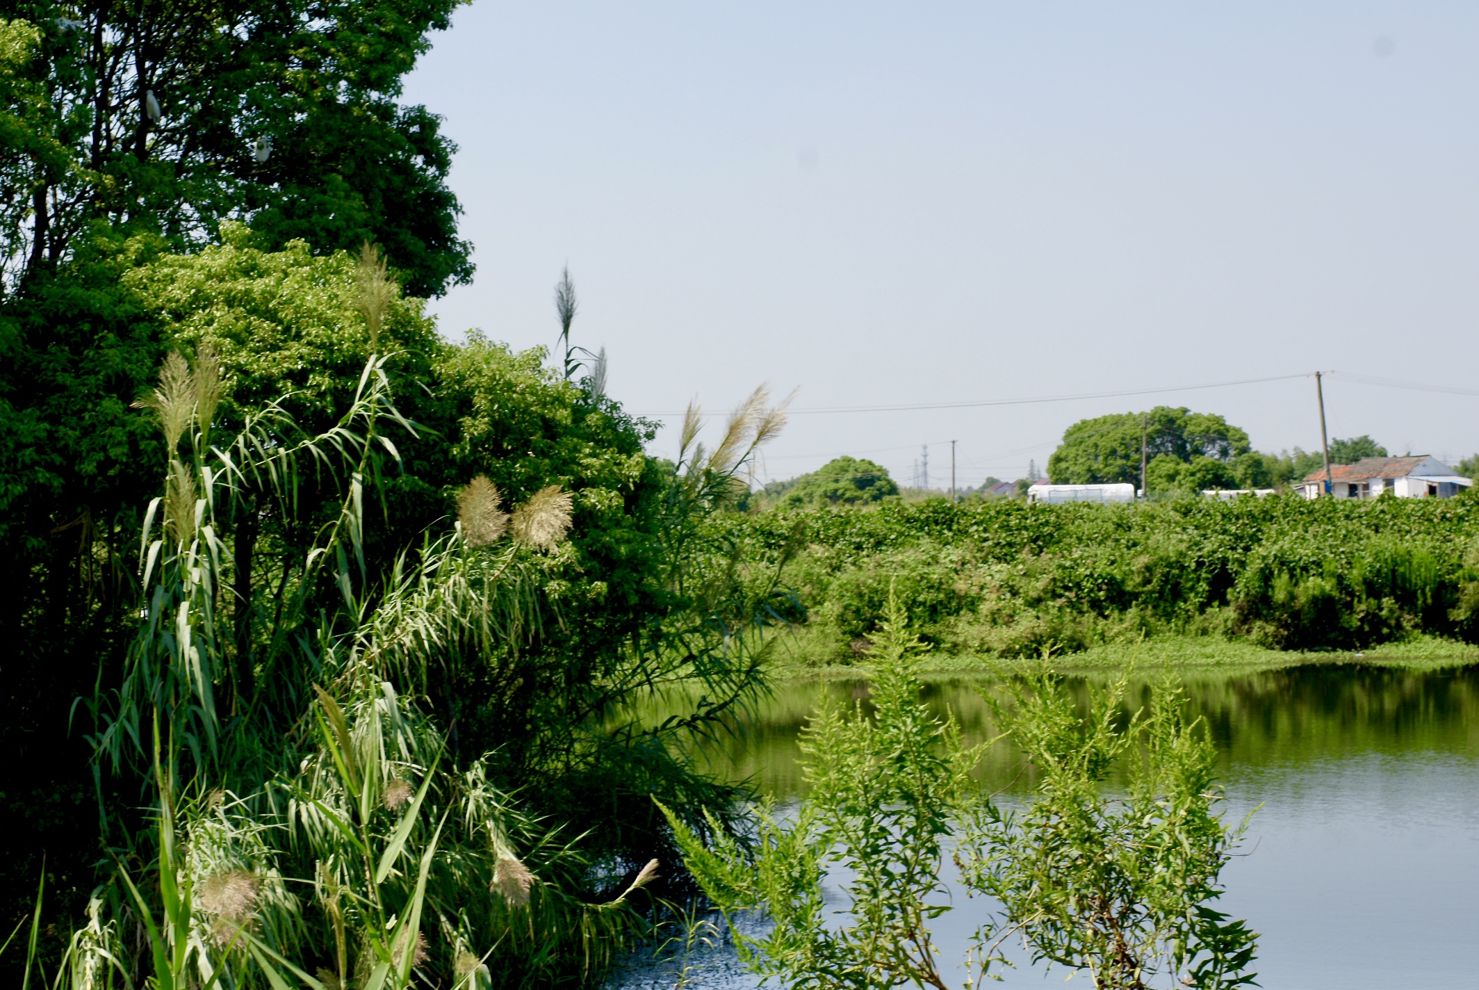
[[[1037,771],[1022,812],[995,808],[970,771],[989,743],[967,747],[954,719],[920,703],[914,638],[896,605],[876,638],[871,716],[822,704],[802,738],[810,786],[794,818],[754,812],[756,843],[705,846],[669,815],[704,892],[726,919],[763,910],[763,935],[732,929],[741,959],[791,987],[948,986],[930,922],[951,910],[942,849],[957,849],[969,888],[1001,910],[978,929],[976,980],[1021,937],[1034,959],[1089,969],[1097,987],[1238,987],[1251,981],[1254,934],[1211,909],[1238,829],[1223,826],[1216,755],[1183,715],[1177,691],[1149,716],[1121,712],[1127,682],[1099,693],[1087,718],[1046,669],[994,704]],[[1130,764],[1124,799],[1100,787]],[[722,836],[720,830],[714,830]],[[828,910],[822,879],[840,875],[845,912]],[[843,915],[837,923],[837,915]],[[1179,983],[1177,983],[1179,981]]]

